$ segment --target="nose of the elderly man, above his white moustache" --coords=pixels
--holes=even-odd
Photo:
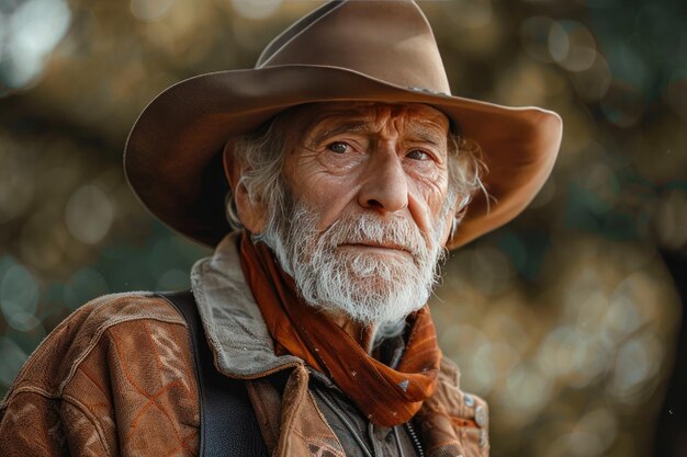
[[[394,213],[408,206],[408,182],[401,158],[393,150],[373,153],[358,198],[363,208]]]

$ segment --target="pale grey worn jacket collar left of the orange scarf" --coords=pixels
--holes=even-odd
[[[240,232],[227,235],[214,255],[191,270],[191,288],[215,366],[223,374],[252,379],[303,365],[292,355],[274,355],[274,343],[240,265]]]

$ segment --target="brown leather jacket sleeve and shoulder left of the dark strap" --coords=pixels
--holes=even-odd
[[[0,403],[0,456],[195,455],[183,319],[160,298],[101,297],[60,323]]]

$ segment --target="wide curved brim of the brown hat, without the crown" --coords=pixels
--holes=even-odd
[[[551,173],[561,144],[562,121],[551,111],[402,88],[338,67],[290,65],[202,75],[165,90],[129,133],[126,178],[161,221],[215,247],[230,230],[221,161],[227,140],[289,107],[327,101],[428,104],[480,145],[488,170],[483,183],[492,204],[482,193],[475,195],[448,242],[450,249],[520,214]]]

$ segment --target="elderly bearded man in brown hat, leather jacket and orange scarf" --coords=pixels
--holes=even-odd
[[[426,302],[447,249],[539,191],[561,122],[449,93],[414,2],[344,1],[256,68],[160,94],[128,180],[215,253],[192,293],[102,297],[55,329],[0,404],[0,454],[488,455]]]

